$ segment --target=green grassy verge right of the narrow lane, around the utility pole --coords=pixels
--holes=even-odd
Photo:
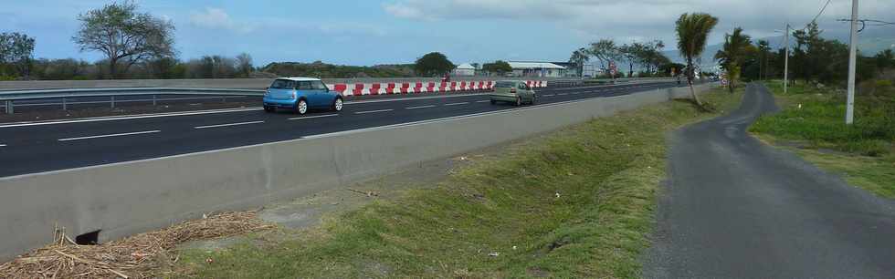
[[[870,83],[856,97],[855,124],[845,125],[846,98],[841,91],[797,84],[783,93],[771,82],[781,111],[764,116],[750,129],[818,167],[839,173],[849,184],[895,199],[895,88]]]

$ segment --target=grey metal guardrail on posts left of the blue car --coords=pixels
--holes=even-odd
[[[159,95],[184,95],[184,96],[227,96],[238,97],[261,97],[264,96],[264,90],[250,89],[219,89],[219,88],[76,88],[76,89],[46,89],[46,90],[16,90],[16,91],[0,91],[0,102],[3,102],[6,114],[16,112],[16,106],[36,106],[16,105],[16,100],[59,98],[60,103],[54,104],[37,104],[43,105],[61,105],[62,109],[68,109],[68,105],[84,104],[84,103],[110,103],[112,109],[116,103],[145,101],[153,102],[153,106],[157,105],[160,100]],[[116,100],[118,96],[152,96],[151,99],[128,99]],[[68,102],[68,98],[90,98],[90,97],[109,97],[108,101],[89,101],[89,102]]]

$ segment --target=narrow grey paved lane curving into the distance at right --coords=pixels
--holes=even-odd
[[[675,132],[645,277],[895,278],[895,202],[746,133],[774,110],[752,84],[740,109]]]

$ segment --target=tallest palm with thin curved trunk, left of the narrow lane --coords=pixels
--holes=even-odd
[[[697,105],[702,105],[700,97],[693,89],[693,59],[700,57],[705,50],[705,42],[711,29],[718,24],[718,18],[709,14],[693,13],[683,14],[678,18],[675,31],[678,33],[678,49],[680,55],[687,59],[687,83],[690,85],[690,94]]]

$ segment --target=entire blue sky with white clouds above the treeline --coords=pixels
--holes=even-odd
[[[77,15],[111,1],[0,0],[0,32],[37,38],[36,57],[100,58],[81,53],[70,37]],[[727,26],[753,36],[774,36],[786,21],[804,25],[826,1],[732,0],[330,0],[137,1],[140,9],[177,27],[179,57],[236,56],[257,65],[272,61],[374,65],[410,63],[430,51],[455,63],[566,60],[572,50],[600,38],[619,42],[663,39],[673,45],[674,19],[705,11],[721,17],[710,43]],[[780,2],[785,2],[781,4]],[[895,19],[891,0],[862,0],[862,13]],[[850,1],[835,0],[820,18],[832,32]],[[895,34],[895,28],[887,34]]]

